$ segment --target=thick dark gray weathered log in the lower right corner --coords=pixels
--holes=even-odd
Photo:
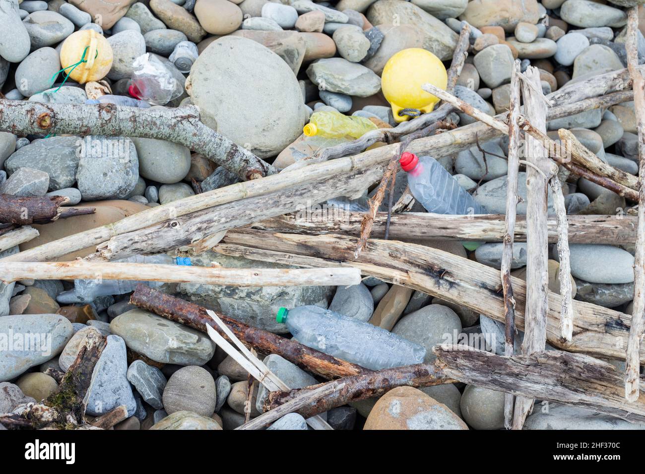
[[[460,382],[645,421],[645,395],[625,402],[622,374],[593,357],[564,351],[501,357],[465,346],[435,346],[433,353],[437,370]]]

